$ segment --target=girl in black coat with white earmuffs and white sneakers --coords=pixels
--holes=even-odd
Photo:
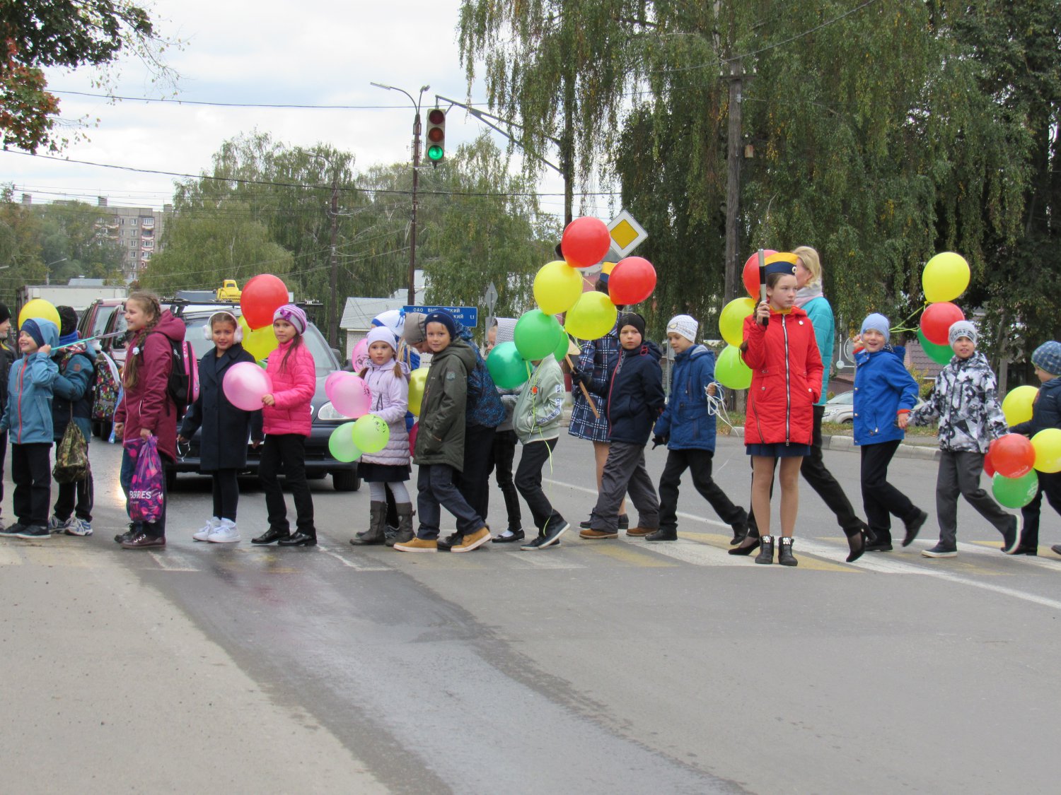
[[[188,408],[177,441],[187,444],[199,435],[199,472],[210,473],[213,514],[192,533],[194,541],[236,544],[236,510],[240,501],[237,473],[247,465],[247,439],[261,442],[262,412],[245,411],[229,403],[223,385],[225,374],[240,361],[251,365],[255,357],[243,350],[243,330],[230,312],[215,312],[203,326],[203,336],[213,341],[198,363],[199,395]]]

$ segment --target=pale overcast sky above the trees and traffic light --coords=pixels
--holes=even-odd
[[[456,24],[459,0],[157,0],[158,30],[179,38],[167,63],[179,74],[176,99],[222,103],[275,103],[376,106],[345,110],[223,108],[77,96],[64,91],[99,93],[90,69],[51,70],[49,87],[69,120],[100,119],[84,130],[88,140],[63,154],[72,160],[136,169],[198,174],[210,166],[220,144],[258,129],[291,145],[329,143],[354,153],[354,166],[407,161],[413,108],[397,91],[370,82],[404,88],[414,96],[430,85],[424,106],[436,93],[467,96],[460,68]],[[122,96],[173,96],[151,82],[135,57],[119,65],[110,90]],[[471,99],[486,99],[482,83]],[[460,108],[447,119],[449,149],[473,139],[482,125]],[[497,136],[500,146],[504,139]],[[44,154],[44,153],[41,153]],[[14,182],[16,196],[34,201],[79,198],[111,205],[160,208],[173,194],[173,177],[0,153],[0,180]],[[562,192],[546,175],[539,190]],[[577,190],[577,188],[576,188]],[[545,196],[542,208],[559,213],[562,196]],[[577,202],[576,202],[577,212]],[[601,210],[607,215],[607,208]]]

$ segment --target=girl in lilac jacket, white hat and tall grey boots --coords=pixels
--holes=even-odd
[[[372,413],[390,428],[386,447],[365,454],[358,472],[369,487],[368,532],[350,538],[354,546],[383,544],[386,541],[387,491],[395,498],[398,512],[398,534],[395,543],[413,540],[413,504],[405,481],[408,480],[408,431],[405,412],[408,410],[408,367],[396,359],[398,340],[385,325],[372,329],[368,336],[368,365],[359,375],[372,391]]]

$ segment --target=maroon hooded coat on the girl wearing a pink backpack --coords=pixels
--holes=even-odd
[[[115,423],[124,423],[126,443],[140,438],[147,428],[158,437],[158,452],[177,460],[177,406],[167,390],[173,370],[173,353],[167,339],[180,343],[185,323],[164,310],[150,333],[140,332],[129,343],[128,355],[138,356],[137,382],[126,387],[125,396],[115,411]]]

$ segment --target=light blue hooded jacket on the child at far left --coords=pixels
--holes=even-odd
[[[51,320],[36,319],[45,344],[55,346],[59,332]],[[47,353],[37,351],[22,356],[7,372],[7,406],[0,419],[0,430],[7,431],[12,444],[51,444],[52,386],[58,366]]]

